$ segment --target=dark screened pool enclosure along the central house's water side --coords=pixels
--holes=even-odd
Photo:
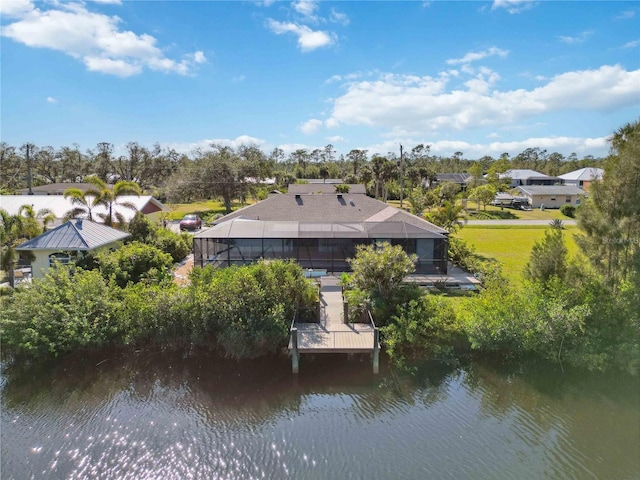
[[[407,222],[318,223],[233,219],[194,237],[199,267],[293,259],[303,268],[349,271],[357,245],[389,242],[416,254],[416,273],[447,273],[447,238]]]

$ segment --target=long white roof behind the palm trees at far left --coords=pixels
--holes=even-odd
[[[132,210],[122,205],[114,205],[115,211],[122,214],[127,222],[131,221],[137,211],[145,215],[169,211],[167,206],[150,195],[124,195],[118,197],[118,203],[131,203],[136,207],[135,210]],[[0,208],[6,210],[9,215],[17,215],[23,205],[31,205],[36,212],[48,208],[58,221],[76,207],[71,199],[64,198],[62,195],[0,195]],[[97,214],[107,213],[107,209],[103,206],[96,206],[92,211],[94,220],[99,218]]]

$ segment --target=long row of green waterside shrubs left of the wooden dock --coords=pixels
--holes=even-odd
[[[196,270],[184,288],[162,275],[125,285],[121,279],[102,264],[96,270],[59,265],[18,288],[3,304],[2,354],[209,345],[228,357],[251,358],[285,346],[296,307],[317,300],[302,269],[284,261]]]

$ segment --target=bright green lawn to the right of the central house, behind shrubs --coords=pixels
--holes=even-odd
[[[517,281],[522,278],[522,270],[529,261],[533,244],[544,238],[545,230],[543,226],[467,226],[456,236],[473,245],[478,254],[498,260],[504,274],[510,280]],[[574,239],[578,231],[575,226],[568,226],[564,230],[569,255],[578,252]]]

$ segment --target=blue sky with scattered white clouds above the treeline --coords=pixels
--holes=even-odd
[[[3,0],[2,141],[604,156],[640,4]]]

